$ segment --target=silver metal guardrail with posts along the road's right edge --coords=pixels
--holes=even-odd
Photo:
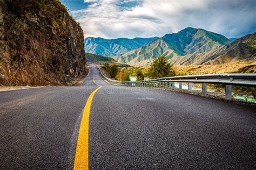
[[[192,83],[202,83],[202,94],[207,95],[207,83],[210,84],[225,84],[226,100],[232,98],[232,86],[256,87],[256,73],[238,73],[238,74],[202,74],[202,75],[187,75],[163,77],[159,79],[145,81],[117,81],[105,76],[99,69],[100,74],[110,82],[125,84],[127,86],[137,87],[169,87],[175,88],[175,82],[179,83],[179,89],[182,89],[182,83],[188,83],[188,91],[192,90]]]

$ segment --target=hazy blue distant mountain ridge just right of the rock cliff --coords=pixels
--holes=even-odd
[[[158,37],[104,39],[88,37],[84,39],[84,49],[85,52],[88,53],[104,56],[115,56],[143,46],[153,40],[156,40],[157,38]]]

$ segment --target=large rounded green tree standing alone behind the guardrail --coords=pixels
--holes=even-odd
[[[154,60],[148,70],[148,76],[151,79],[157,79],[160,77],[170,77],[174,76],[175,71],[172,68],[172,65],[168,63],[168,60],[165,58],[165,55],[160,55]]]

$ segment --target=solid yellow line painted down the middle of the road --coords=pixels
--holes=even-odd
[[[89,169],[89,117],[92,98],[95,93],[102,88],[101,86],[94,90],[89,96],[84,112],[82,121],[80,124],[80,129],[77,139],[77,148],[75,154],[74,169]]]

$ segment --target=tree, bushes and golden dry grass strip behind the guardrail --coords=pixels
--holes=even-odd
[[[105,66],[107,65],[107,66]],[[105,63],[104,67],[110,68],[112,65]],[[113,66],[112,66],[113,67]],[[130,81],[130,76],[136,76],[137,81],[145,78],[157,79],[160,77],[179,76],[179,75],[196,75],[196,74],[213,74],[213,73],[256,73],[256,65],[191,65],[191,66],[172,66],[168,63],[164,55],[158,56],[150,66],[141,67],[122,67],[109,69],[109,75],[114,76],[116,80]],[[110,76],[111,77],[111,76]],[[194,83],[195,86],[201,87],[201,84]],[[207,84],[208,88],[217,91],[225,90],[221,84]],[[253,96],[256,98],[256,88],[233,86],[234,95]]]

